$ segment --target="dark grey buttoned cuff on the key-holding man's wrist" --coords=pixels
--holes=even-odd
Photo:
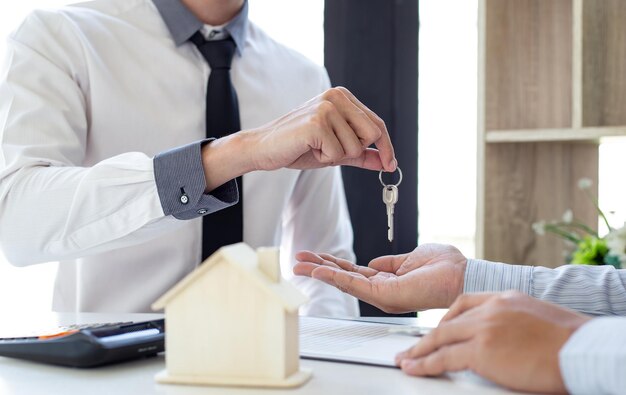
[[[201,149],[206,139],[161,152],[154,157],[154,179],[165,215],[194,219],[239,201],[237,182],[231,180],[205,194],[206,178]]]

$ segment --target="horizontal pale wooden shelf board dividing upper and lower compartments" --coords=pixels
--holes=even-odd
[[[626,126],[585,127],[579,129],[490,130],[486,143],[532,143],[547,141],[599,141],[603,137],[626,136]]]

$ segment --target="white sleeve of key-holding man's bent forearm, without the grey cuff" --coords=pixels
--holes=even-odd
[[[139,243],[171,229],[163,219],[152,159],[142,154],[90,168],[40,165],[0,173],[0,242],[13,264]]]

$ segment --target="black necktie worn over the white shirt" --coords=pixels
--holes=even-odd
[[[238,132],[239,104],[237,93],[230,80],[230,64],[236,45],[231,37],[207,41],[200,32],[191,37],[202,56],[211,67],[206,93],[206,136],[222,137]],[[210,169],[209,169],[210,170]],[[239,203],[203,218],[202,260],[218,248],[243,240],[243,184],[239,184]]]

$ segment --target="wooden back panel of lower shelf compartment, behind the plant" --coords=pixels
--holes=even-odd
[[[598,213],[578,189],[597,186],[598,147],[587,142],[500,143],[485,147],[483,256],[496,262],[560,266],[566,246],[535,234],[532,224],[561,218],[571,209],[583,223]],[[592,192],[595,193],[595,192]]]

